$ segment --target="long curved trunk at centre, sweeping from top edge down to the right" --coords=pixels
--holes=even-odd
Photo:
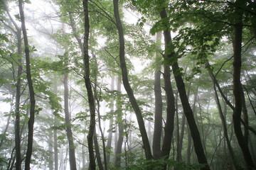
[[[134,113],[137,117],[137,121],[139,124],[139,130],[142,135],[142,143],[143,143],[146,159],[152,159],[151,148],[149,145],[149,138],[147,137],[147,134],[146,134],[146,128],[145,128],[144,120],[142,117],[142,111],[139,108],[136,98],[134,97],[132,88],[129,84],[127,65],[126,65],[125,56],[124,56],[125,55],[125,53],[124,53],[124,31],[123,31],[122,22],[121,22],[121,19],[119,16],[118,0],[113,0],[113,4],[114,4],[114,18],[116,19],[117,30],[118,30],[118,34],[119,34],[119,60],[120,60],[120,65],[121,65],[121,70],[122,70],[122,81],[124,84],[124,89],[127,91],[127,94],[129,96],[129,101],[131,102],[132,108],[134,109]]]

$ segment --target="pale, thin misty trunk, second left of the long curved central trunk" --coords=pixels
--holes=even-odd
[[[114,90],[114,76],[111,77],[111,91]],[[112,101],[112,107],[110,108],[110,111],[114,111],[114,101]],[[113,118],[110,118],[110,128],[109,128],[109,134],[107,135],[107,162],[110,162],[110,151],[111,151],[111,144],[112,144],[112,130],[113,129]]]

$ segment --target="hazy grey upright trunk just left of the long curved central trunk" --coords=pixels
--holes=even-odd
[[[119,81],[119,77],[117,78],[117,91],[121,94],[121,82]],[[119,98],[121,100],[121,98]],[[119,101],[117,100],[117,102]],[[119,104],[117,103],[117,125],[118,125],[118,140],[117,140],[117,149],[115,152],[115,161],[114,166],[121,166],[121,154],[122,154],[122,143],[124,141],[124,123],[122,119],[122,110],[119,108]]]

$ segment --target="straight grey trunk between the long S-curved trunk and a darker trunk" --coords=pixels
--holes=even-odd
[[[161,132],[162,132],[162,110],[163,101],[161,98],[161,34],[156,33],[156,43],[159,43],[156,49],[156,69],[154,72],[154,96],[155,96],[155,113],[154,113],[154,135],[153,135],[153,157],[159,159],[161,154]]]

